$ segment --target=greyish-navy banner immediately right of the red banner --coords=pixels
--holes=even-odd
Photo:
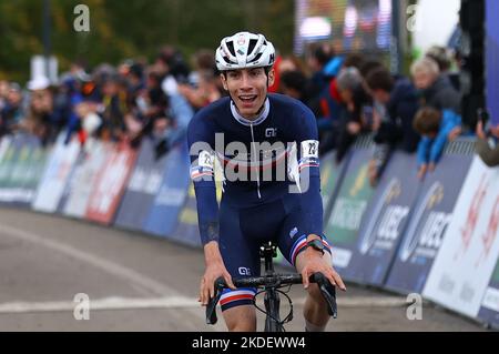
[[[116,226],[135,231],[143,230],[163,181],[166,159],[167,155],[163,155],[156,160],[151,139],[142,139],[135,168],[114,221]]]

